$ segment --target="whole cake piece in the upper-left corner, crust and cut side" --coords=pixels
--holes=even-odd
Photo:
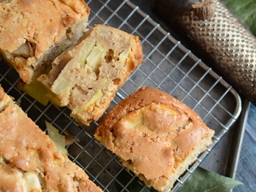
[[[30,83],[86,31],[83,0],[0,1],[0,54]]]

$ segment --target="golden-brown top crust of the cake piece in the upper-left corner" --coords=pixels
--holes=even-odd
[[[83,0],[4,0],[0,8],[0,50],[13,52],[30,42],[35,56],[59,42],[63,30],[90,12]]]

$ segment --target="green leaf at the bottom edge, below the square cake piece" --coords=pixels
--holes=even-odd
[[[198,167],[190,178],[182,185],[178,192],[229,192],[234,186],[243,185],[242,182],[224,177],[215,172]]]

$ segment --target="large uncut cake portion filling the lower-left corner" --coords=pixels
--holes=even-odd
[[[102,191],[0,86],[0,191]]]

